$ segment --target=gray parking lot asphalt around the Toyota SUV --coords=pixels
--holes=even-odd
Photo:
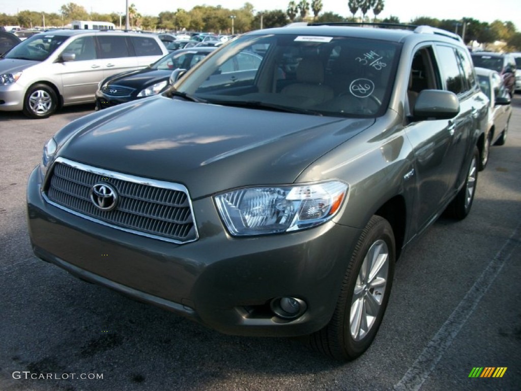
[[[521,95],[470,215],[440,218],[408,249],[374,344],[349,363],[293,339],[222,335],[36,259],[27,177],[45,141],[90,112],[0,113],[0,390],[519,389]],[[506,371],[469,377],[476,367]]]

